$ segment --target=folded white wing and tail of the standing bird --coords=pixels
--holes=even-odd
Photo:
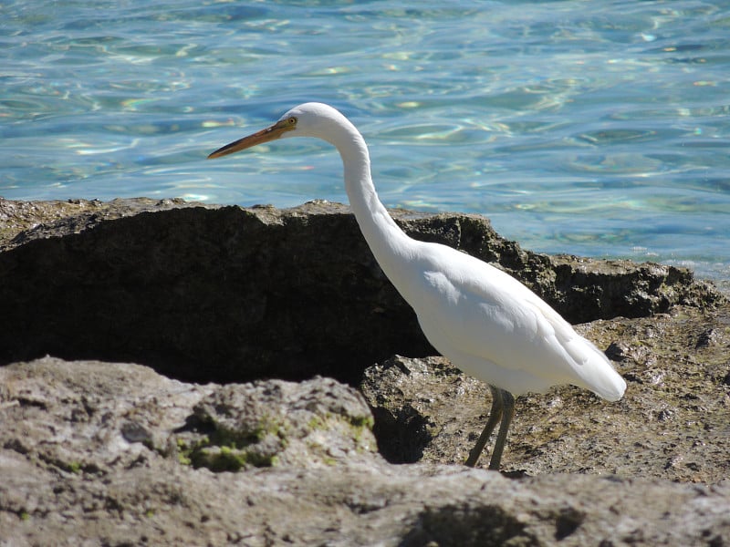
[[[620,397],[623,380],[606,356],[537,294],[474,257],[440,250],[442,264],[445,257],[447,267],[433,262],[422,268],[425,305],[416,309],[424,332],[432,331],[425,334],[437,349],[446,353],[442,347],[453,347],[496,366],[540,377],[546,386],[571,383],[601,397]],[[441,320],[436,325],[433,319],[422,319],[423,313],[440,314]]]

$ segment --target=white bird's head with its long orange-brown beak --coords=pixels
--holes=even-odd
[[[220,158],[257,144],[287,137],[316,137],[331,141],[332,129],[343,124],[350,125],[335,108],[322,103],[304,103],[289,110],[274,125],[215,150],[208,159]]]

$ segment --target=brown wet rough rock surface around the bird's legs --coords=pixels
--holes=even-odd
[[[578,387],[516,400],[502,470],[717,483],[730,478],[730,306],[579,325],[626,379],[608,403]],[[443,357],[371,366],[362,391],[391,462],[463,462],[489,389]],[[488,454],[482,464],[488,462]]]

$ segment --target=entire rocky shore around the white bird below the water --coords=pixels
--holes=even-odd
[[[0,544],[730,544],[723,294],[393,216],[581,324],[626,396],[519,397],[504,473],[467,470],[488,389],[347,207],[0,200]]]

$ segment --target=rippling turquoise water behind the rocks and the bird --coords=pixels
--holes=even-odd
[[[391,207],[730,279],[728,2],[0,4],[0,195],[346,201],[328,145],[218,146],[307,100]]]

